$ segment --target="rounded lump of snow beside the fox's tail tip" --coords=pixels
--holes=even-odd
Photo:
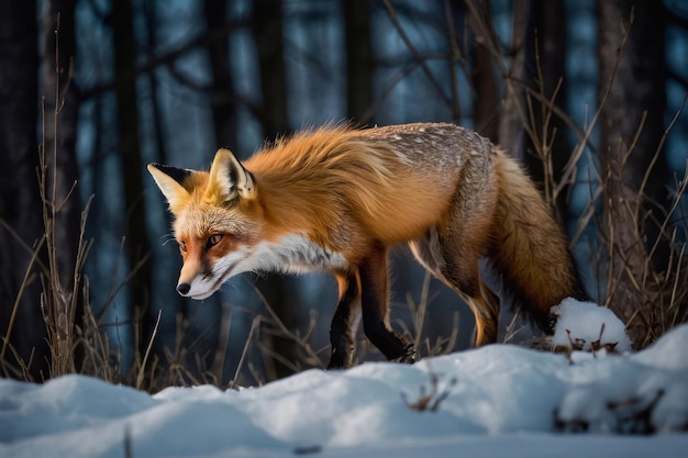
[[[552,338],[556,346],[573,345],[584,351],[631,351],[632,343],[625,333],[625,325],[607,308],[566,298],[551,312],[558,316]]]

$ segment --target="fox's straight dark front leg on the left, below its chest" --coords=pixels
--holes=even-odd
[[[328,369],[343,369],[351,366],[354,350],[353,325],[360,311],[360,291],[356,275],[346,271],[336,272],[335,277],[340,286],[340,301],[330,326],[332,355]]]

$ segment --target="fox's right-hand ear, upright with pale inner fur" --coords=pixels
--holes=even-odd
[[[237,197],[251,199],[256,187],[253,176],[241,165],[229,149],[218,149],[210,167],[210,181],[206,197],[211,200],[229,201]]]

